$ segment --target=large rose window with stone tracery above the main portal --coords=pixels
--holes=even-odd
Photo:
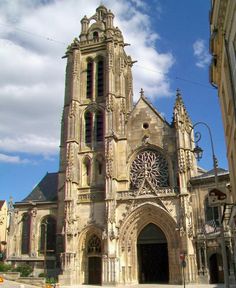
[[[168,164],[158,152],[146,150],[139,153],[130,169],[131,188],[139,189],[148,185],[153,188],[169,186]]]

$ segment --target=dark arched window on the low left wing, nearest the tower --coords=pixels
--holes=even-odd
[[[47,216],[41,221],[40,225],[40,252],[55,253],[56,252],[56,220]]]

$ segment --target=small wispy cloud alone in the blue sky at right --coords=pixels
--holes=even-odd
[[[193,53],[197,60],[197,67],[205,68],[207,65],[209,65],[211,56],[204,40],[198,39],[193,43]]]

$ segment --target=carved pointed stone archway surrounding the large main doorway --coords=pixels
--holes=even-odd
[[[155,203],[145,203],[138,206],[126,217],[120,227],[119,254],[123,283],[139,282],[138,237],[148,225],[154,224],[165,235],[168,250],[168,272],[166,277],[170,284],[181,283],[179,265],[180,239],[176,231],[176,222],[170,214]]]

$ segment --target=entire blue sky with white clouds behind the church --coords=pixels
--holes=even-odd
[[[18,3],[20,2],[20,4]],[[66,47],[97,0],[3,1],[0,4],[1,199],[20,201],[58,170]],[[103,1],[115,14],[134,64],[134,97],[145,96],[171,122],[179,88],[193,121],[212,130],[219,165],[227,168],[217,90],[209,83],[208,0]],[[199,163],[212,168],[205,128]]]

